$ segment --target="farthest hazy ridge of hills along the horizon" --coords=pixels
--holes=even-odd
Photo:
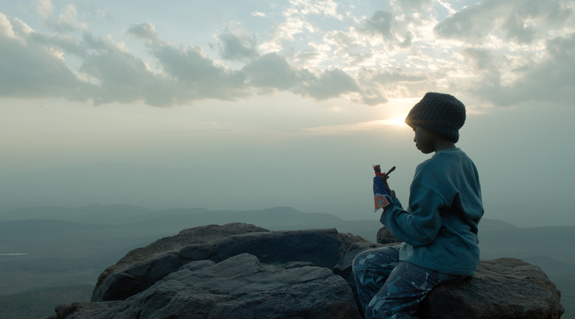
[[[177,234],[183,228],[231,221],[280,229],[336,228],[375,242],[379,228],[378,216],[373,220],[342,220],[327,213],[304,213],[291,207],[274,207],[252,211],[210,211],[204,208],[172,208],[151,210],[132,205],[89,205],[77,208],[19,208],[0,214],[0,221],[56,219],[88,224],[122,225],[127,236]],[[66,226],[62,226],[66,228]],[[70,227],[74,229],[74,227]],[[493,219],[482,219],[480,231],[517,229],[515,225]],[[113,231],[112,231],[113,232]]]

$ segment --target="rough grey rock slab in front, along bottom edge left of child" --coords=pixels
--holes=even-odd
[[[283,269],[250,254],[190,262],[125,301],[59,306],[56,319],[360,319],[347,283],[324,267]]]

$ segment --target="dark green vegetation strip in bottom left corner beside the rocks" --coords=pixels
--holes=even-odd
[[[2,319],[36,319],[55,314],[60,304],[90,301],[94,286],[51,287],[24,293],[0,295]]]

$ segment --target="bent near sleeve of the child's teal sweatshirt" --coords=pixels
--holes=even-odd
[[[413,181],[409,193],[407,211],[401,208],[398,199],[386,209],[381,221],[397,239],[412,246],[425,246],[431,243],[442,225],[439,209],[444,201],[438,194]]]

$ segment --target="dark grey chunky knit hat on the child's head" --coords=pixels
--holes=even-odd
[[[459,140],[459,129],[465,123],[465,106],[453,95],[428,92],[415,104],[405,124],[420,126],[454,143]]]

